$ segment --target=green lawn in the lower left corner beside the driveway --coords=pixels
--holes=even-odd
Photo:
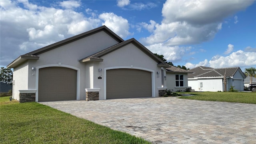
[[[36,102],[0,98],[1,144],[150,144]]]

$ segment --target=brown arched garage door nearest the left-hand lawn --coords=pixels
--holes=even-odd
[[[39,69],[38,101],[76,100],[76,70],[64,67]]]

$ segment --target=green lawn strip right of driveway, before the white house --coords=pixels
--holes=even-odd
[[[256,104],[256,92],[186,92],[195,96],[182,96],[183,99],[207,100]]]

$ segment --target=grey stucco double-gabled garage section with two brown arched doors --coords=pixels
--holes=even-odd
[[[26,101],[157,97],[168,67],[134,38],[106,26],[19,56],[13,98]]]

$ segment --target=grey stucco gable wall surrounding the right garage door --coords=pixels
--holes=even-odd
[[[152,72],[152,85],[154,89],[152,96],[158,96],[158,87],[162,86],[161,67],[157,66],[157,62],[152,60],[147,54],[138,49],[134,44],[128,44],[118,50],[115,50],[105,56],[102,56],[103,62],[94,64],[94,88],[100,88],[99,98],[105,99],[104,80],[106,78],[106,70],[110,68],[138,68],[142,70],[150,70]],[[98,79],[98,69],[102,69],[102,79]],[[160,72],[157,77],[156,72]]]

